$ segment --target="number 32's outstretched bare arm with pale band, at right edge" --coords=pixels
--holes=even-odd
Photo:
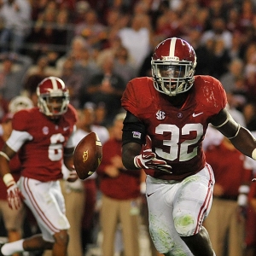
[[[211,123],[242,153],[256,160],[256,140],[252,133],[231,117],[226,108],[211,119]]]

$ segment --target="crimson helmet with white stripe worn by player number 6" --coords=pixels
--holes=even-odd
[[[44,79],[37,88],[38,108],[47,116],[59,116],[67,112],[69,92],[64,82],[56,77]]]

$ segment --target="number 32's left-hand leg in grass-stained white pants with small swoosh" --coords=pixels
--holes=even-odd
[[[175,181],[165,181],[148,176],[146,179],[148,223],[154,247],[159,253],[172,256],[192,256],[189,247],[175,229],[172,204],[178,189]]]

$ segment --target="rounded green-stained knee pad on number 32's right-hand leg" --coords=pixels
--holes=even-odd
[[[177,230],[177,233],[180,236],[193,236],[195,235],[195,228],[197,223],[197,219],[195,219],[195,216],[185,213],[185,214],[179,214],[174,217],[174,226]]]

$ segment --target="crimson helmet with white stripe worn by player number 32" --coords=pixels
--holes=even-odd
[[[155,90],[176,96],[194,83],[196,55],[193,47],[180,38],[167,38],[154,49],[151,69]]]

